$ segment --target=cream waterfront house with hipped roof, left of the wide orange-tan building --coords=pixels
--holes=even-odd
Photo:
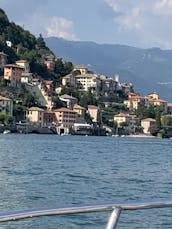
[[[26,117],[29,123],[42,127],[44,124],[44,109],[31,107],[28,109]]]

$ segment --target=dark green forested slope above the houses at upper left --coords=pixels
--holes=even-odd
[[[6,42],[12,43],[8,47]],[[8,63],[25,59],[30,63],[32,73],[40,75],[45,79],[59,81],[59,78],[68,74],[73,65],[71,62],[63,62],[62,59],[55,59],[55,70],[50,72],[44,64],[46,58],[54,56],[54,53],[46,46],[42,35],[38,38],[21,26],[10,22],[5,12],[0,9],[0,52],[8,55]]]

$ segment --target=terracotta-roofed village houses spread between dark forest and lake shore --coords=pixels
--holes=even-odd
[[[54,71],[53,59],[45,60],[45,64],[48,70]],[[160,99],[157,93],[147,96],[135,93],[133,85],[121,83],[118,75],[111,79],[90,72],[87,67],[74,66],[72,72],[54,86],[52,80],[43,80],[31,73],[26,60],[7,64],[7,55],[3,52],[0,53],[0,68],[4,73],[1,82],[6,88],[24,88],[37,98],[38,105],[27,107],[21,120],[11,119],[16,130],[22,133],[157,134],[161,127],[157,119],[171,117],[171,103]],[[67,93],[63,93],[65,91]],[[53,95],[57,96],[61,107],[53,101]],[[81,106],[84,96],[88,101],[86,106]],[[13,117],[16,103],[18,101],[2,95],[1,113]],[[158,114],[163,116],[158,117]]]

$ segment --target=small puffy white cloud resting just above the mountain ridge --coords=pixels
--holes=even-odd
[[[61,37],[67,40],[76,40],[73,32],[74,24],[72,21],[63,17],[52,17],[47,22],[47,36]]]

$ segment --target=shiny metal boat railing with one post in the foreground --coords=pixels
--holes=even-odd
[[[65,207],[65,208],[53,208],[53,209],[35,209],[25,210],[10,213],[1,213],[0,222],[7,222],[12,220],[25,219],[30,217],[51,216],[51,215],[69,215],[79,213],[91,213],[91,212],[105,212],[111,211],[111,216],[107,223],[106,229],[115,229],[117,227],[120,213],[124,210],[139,210],[139,209],[151,209],[151,208],[169,208],[172,207],[172,201],[154,201],[145,203],[128,203],[128,204],[103,204],[94,206],[77,206],[77,207]]]

